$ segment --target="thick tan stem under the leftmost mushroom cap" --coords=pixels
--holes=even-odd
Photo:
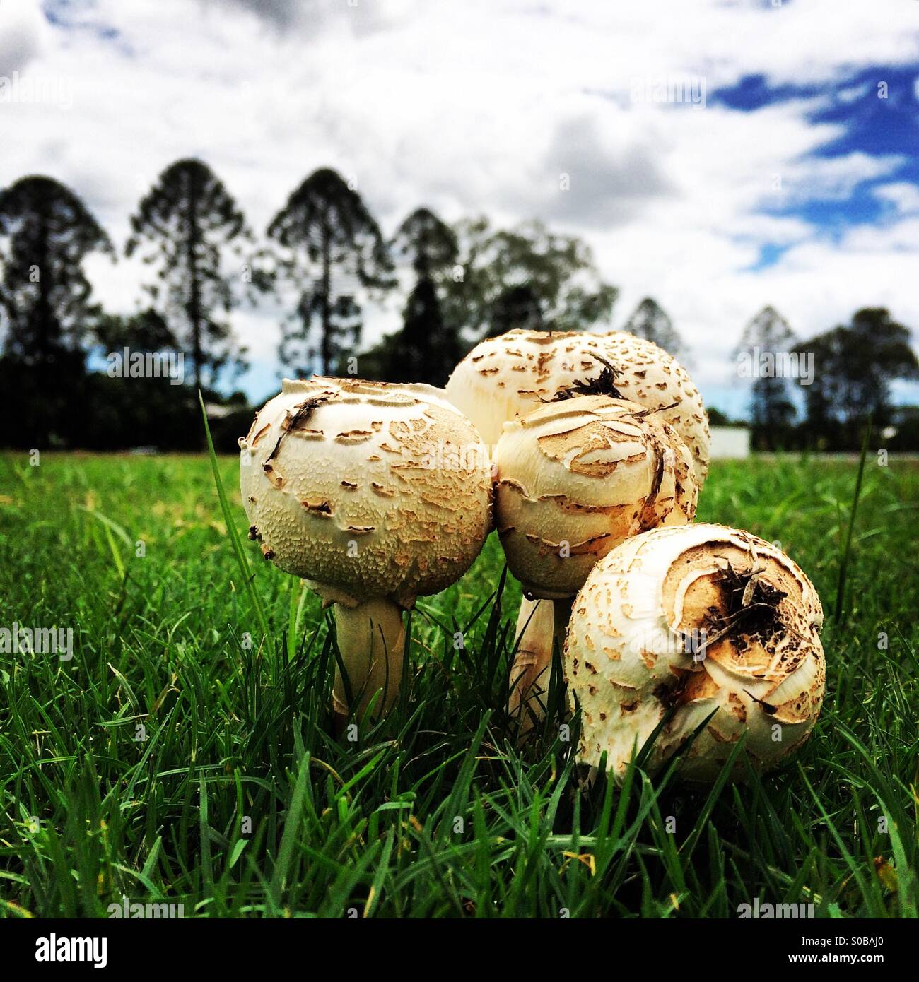
[[[368,600],[357,607],[335,604],[335,634],[348,677],[352,707],[363,714],[377,692],[373,716],[384,715],[395,702],[402,681],[405,626],[402,611],[391,600]],[[348,689],[335,666],[332,703],[339,720],[347,717]]]

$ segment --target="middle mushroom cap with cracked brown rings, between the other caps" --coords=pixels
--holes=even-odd
[[[578,396],[505,423],[493,462],[495,527],[534,597],[573,596],[620,542],[696,514],[686,444],[627,400]]]

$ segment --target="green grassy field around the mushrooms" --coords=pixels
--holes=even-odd
[[[244,542],[247,589],[205,457],[0,455],[0,627],[74,630],[72,660],[0,655],[0,909],[916,916],[919,467],[869,456],[836,620],[856,472],[713,468],[699,518],[780,541],[816,583],[828,692],[784,770],[700,794],[637,770],[579,788],[557,719],[518,751],[519,588],[493,536],[413,614],[407,698],[338,741],[326,617]]]

